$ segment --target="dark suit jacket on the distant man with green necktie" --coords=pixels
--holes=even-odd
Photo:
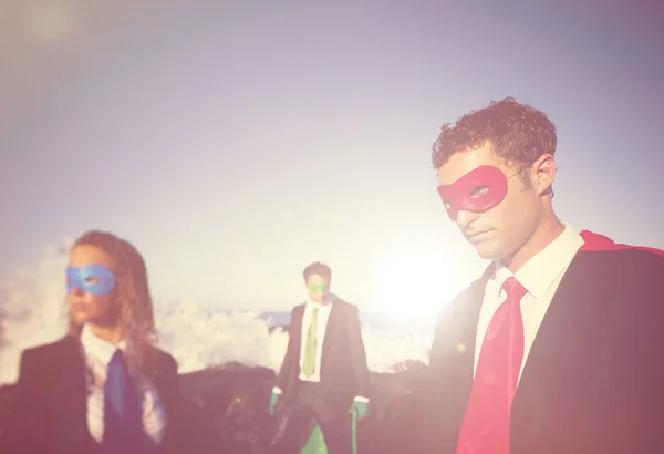
[[[300,345],[304,306],[295,306],[291,313],[286,357],[277,385],[284,392],[286,402],[295,395],[300,376]],[[335,411],[347,413],[353,399],[369,399],[370,375],[366,353],[360,330],[357,307],[336,299],[332,302],[325,329],[321,357],[321,388],[328,404]]]

